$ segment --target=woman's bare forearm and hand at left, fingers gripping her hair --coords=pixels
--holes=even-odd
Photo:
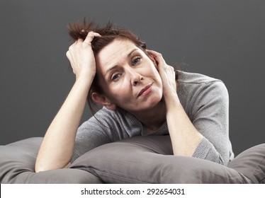
[[[91,32],[84,41],[79,39],[69,47],[67,57],[76,75],[76,81],[47,129],[35,163],[36,172],[64,168],[69,165],[86,97],[96,74],[91,41],[99,36],[98,33]]]

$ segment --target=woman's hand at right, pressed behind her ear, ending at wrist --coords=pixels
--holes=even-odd
[[[159,75],[162,79],[163,84],[163,95],[164,100],[172,98],[176,95],[176,73],[173,66],[168,65],[163,57],[162,54],[159,52],[155,52],[154,50],[147,50],[147,52],[154,58],[155,62],[157,63],[157,69]]]

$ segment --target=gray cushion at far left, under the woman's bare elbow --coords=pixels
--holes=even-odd
[[[78,169],[35,173],[35,158],[42,140],[35,137],[0,146],[1,183],[101,183],[98,177]]]

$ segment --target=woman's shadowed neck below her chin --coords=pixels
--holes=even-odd
[[[167,110],[164,100],[161,100],[157,105],[152,107],[150,110],[133,114],[137,120],[140,120],[143,127],[147,130],[148,134],[159,129],[164,122],[167,121]]]

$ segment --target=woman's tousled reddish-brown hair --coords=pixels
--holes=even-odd
[[[74,39],[78,40],[79,38],[85,39],[86,35],[90,31],[94,31],[101,35],[101,37],[95,37],[91,42],[91,47],[94,52],[94,55],[98,54],[103,47],[113,42],[115,39],[125,39],[133,42],[137,47],[139,47],[143,52],[146,52],[146,44],[142,40],[140,40],[135,34],[130,32],[129,30],[125,30],[123,28],[119,28],[113,23],[108,22],[105,27],[101,28],[96,25],[94,22],[86,23],[84,19],[83,22],[72,23],[68,25],[69,35]],[[148,55],[148,54],[147,54]],[[89,103],[89,107],[92,113],[95,113],[98,110],[97,104],[92,100],[91,94],[96,92],[98,94],[103,93],[103,89],[99,86],[97,75],[94,78],[93,83],[91,84],[91,88],[89,90],[89,94],[87,95],[87,102]]]

